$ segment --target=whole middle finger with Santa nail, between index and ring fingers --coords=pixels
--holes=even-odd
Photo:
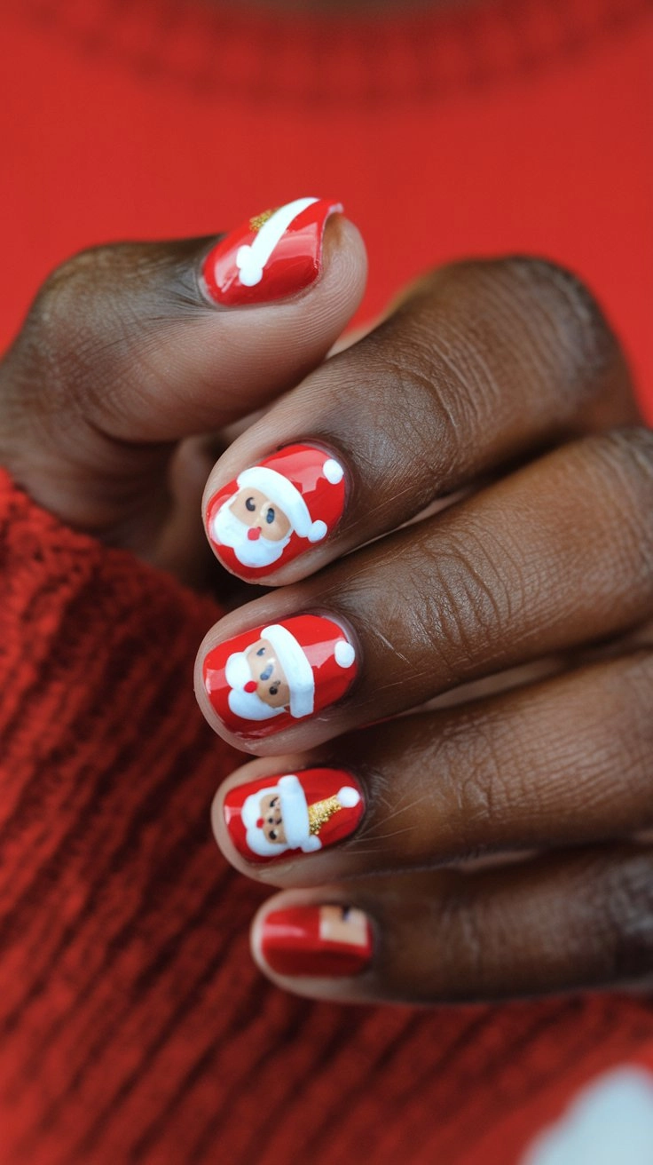
[[[222,620],[198,656],[200,706],[251,751],[311,748],[620,634],[653,609],[652,511],[652,433],[559,449]]]

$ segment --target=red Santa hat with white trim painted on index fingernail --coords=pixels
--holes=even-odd
[[[269,497],[294,532],[308,542],[320,542],[342,511],[342,466],[321,450],[282,450],[262,465],[243,469],[236,485],[239,489],[258,489]]]

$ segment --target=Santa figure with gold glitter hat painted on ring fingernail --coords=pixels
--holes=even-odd
[[[263,797],[279,798],[286,838],[285,846],[269,841],[263,833],[261,817]],[[260,789],[258,792],[250,793],[244,800],[241,814],[247,829],[247,843],[250,850],[260,857],[274,857],[284,853],[285,849],[301,849],[305,854],[314,853],[317,849],[321,849],[322,843],[318,834],[322,826],[331,820],[334,813],[339,813],[342,809],[353,809],[360,799],[361,795],[357,789],[343,785],[333,797],[308,805],[297,776],[291,774],[279,777],[275,786]]]

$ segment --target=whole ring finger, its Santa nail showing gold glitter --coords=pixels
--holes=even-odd
[[[626,836],[653,826],[652,694],[641,651],[254,761],[215,795],[215,838],[290,887]]]

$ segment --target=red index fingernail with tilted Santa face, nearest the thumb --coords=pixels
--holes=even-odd
[[[345,471],[331,453],[289,445],[213,495],[208,538],[232,573],[269,574],[332,534],[345,509]]]

